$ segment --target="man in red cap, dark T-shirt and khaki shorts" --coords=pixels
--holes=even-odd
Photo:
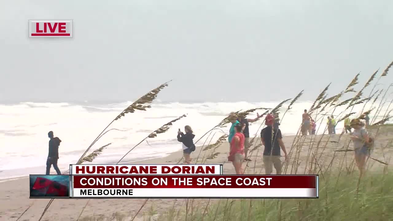
[[[283,136],[281,135],[281,130],[274,129],[273,123],[274,117],[271,114],[268,114],[265,118],[265,125],[267,127],[261,131],[261,141],[264,145],[262,159],[266,175],[270,175],[273,172],[272,166],[274,166],[276,174],[281,174],[282,165],[280,160],[280,147],[284,152],[285,160],[288,160],[288,155],[282,140]]]

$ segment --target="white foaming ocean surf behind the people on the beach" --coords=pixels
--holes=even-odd
[[[0,179],[10,179],[28,174],[44,174],[48,156],[49,131],[53,131],[54,135],[62,140],[59,147],[58,163],[61,171],[67,170],[69,164],[76,163],[97,135],[130,103],[132,102],[0,104],[0,140],[2,145],[0,148]],[[126,131],[108,132],[96,142],[88,153],[105,144],[112,143],[92,163],[116,163],[129,149],[152,131],[182,114],[187,114],[187,117],[173,123],[166,133],[158,134],[157,137],[148,138],[147,141],[142,142],[121,163],[164,157],[181,150],[182,145],[177,141],[176,136],[179,128],[184,131],[185,125],[192,127],[195,134],[194,140],[197,140],[231,111],[257,107],[274,108],[278,103],[279,101],[271,103],[164,103],[155,101],[147,111],[137,110],[112,123],[108,129],[116,128]],[[297,133],[301,123],[301,114],[311,105],[310,101],[293,105],[293,108],[285,114],[281,122],[280,129],[283,135]],[[280,118],[282,118],[286,107],[283,105]],[[360,111],[362,107],[363,105],[358,105],[356,110]],[[337,109],[334,113],[338,114],[341,111]],[[262,112],[264,110],[260,111],[260,113]],[[248,118],[255,117],[256,112],[250,114]],[[323,128],[325,119],[324,117]],[[262,122],[259,120],[250,124],[250,136],[254,136]],[[317,128],[318,124],[320,122],[317,122]],[[341,124],[336,128],[342,128]],[[323,128],[320,131],[323,131]],[[222,130],[228,133],[229,127],[224,127]],[[215,142],[222,134],[219,130],[215,131],[211,142]],[[196,145],[202,145],[205,140],[206,137],[202,138]],[[53,172],[54,169],[52,168],[51,171]]]

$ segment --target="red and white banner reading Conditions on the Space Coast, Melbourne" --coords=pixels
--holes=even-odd
[[[74,175],[72,197],[318,198],[318,175]]]

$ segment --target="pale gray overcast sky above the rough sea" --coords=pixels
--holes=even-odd
[[[73,19],[73,38],[29,39],[29,19]],[[164,101],[314,100],[383,70],[392,25],[391,0],[2,1],[0,101],[127,101],[169,79]]]

